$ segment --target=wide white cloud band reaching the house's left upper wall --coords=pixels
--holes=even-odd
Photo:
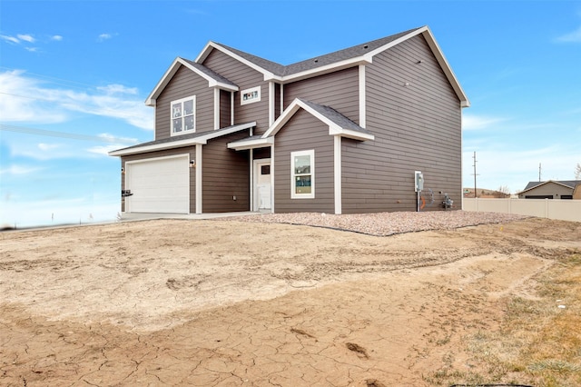
[[[65,122],[75,112],[153,130],[153,110],[137,94],[136,88],[122,84],[86,91],[50,88],[23,71],[7,71],[0,73],[0,117],[3,122],[54,124]]]

